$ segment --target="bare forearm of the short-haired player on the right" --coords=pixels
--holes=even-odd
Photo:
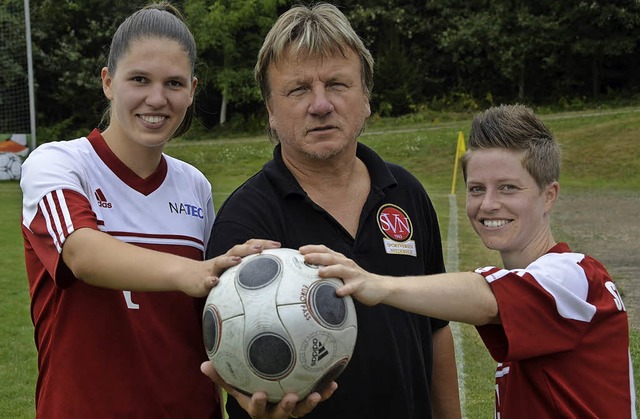
[[[443,320],[474,325],[499,322],[491,287],[473,272],[385,277],[382,303]]]

